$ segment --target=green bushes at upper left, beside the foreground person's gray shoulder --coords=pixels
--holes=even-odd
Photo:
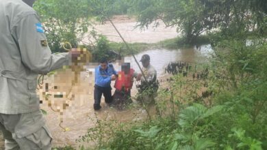
[[[64,42],[70,42],[73,48],[79,44],[94,48],[98,43],[95,38],[101,39],[96,37],[93,28],[94,18],[103,22],[114,14],[127,13],[128,8],[129,3],[120,0],[38,0],[34,3],[52,52],[62,51]]]

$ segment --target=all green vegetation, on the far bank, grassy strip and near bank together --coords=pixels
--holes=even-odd
[[[94,142],[93,149],[267,149],[264,0],[49,0],[38,1],[36,8],[44,18],[53,50],[64,40],[77,46],[90,18],[103,22],[125,12],[136,15],[140,27],[151,23],[157,27],[162,20],[183,34],[157,44],[130,44],[133,53],[153,46],[173,49],[203,43],[210,43],[214,50],[209,63],[203,65],[209,72],[207,78],[190,78],[196,73],[192,69],[186,78],[172,76],[168,88],[158,91],[157,117],[136,123],[96,119],[95,126],[78,141]],[[94,31],[90,35],[96,42],[87,47],[97,59],[107,57],[108,50],[122,55],[132,52]]]

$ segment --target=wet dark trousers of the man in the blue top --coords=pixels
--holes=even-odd
[[[112,102],[111,90],[111,87],[99,87],[94,85],[94,108],[100,107],[102,93],[105,97],[105,103],[109,104]]]

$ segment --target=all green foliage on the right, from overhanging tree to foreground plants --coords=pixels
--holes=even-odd
[[[199,80],[173,76],[168,89],[158,93],[156,119],[115,131],[100,121],[83,140],[100,139],[97,149],[267,149],[266,3],[133,3],[141,26],[161,19],[177,25],[186,42],[216,29],[214,53],[203,67],[209,74]]]

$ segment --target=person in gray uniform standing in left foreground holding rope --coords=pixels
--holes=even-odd
[[[0,0],[0,129],[5,149],[51,149],[36,79],[71,59],[67,52],[51,54],[33,3]]]

